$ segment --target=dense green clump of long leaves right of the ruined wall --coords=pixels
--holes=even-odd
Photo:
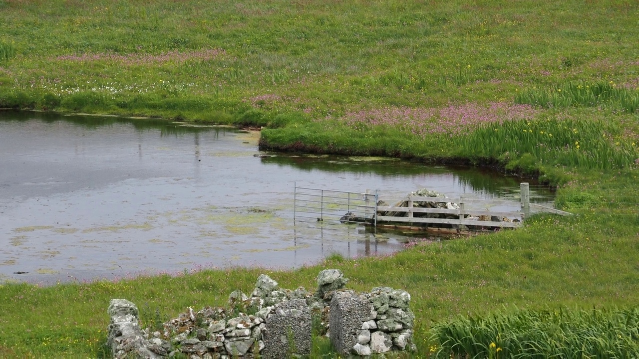
[[[633,358],[639,309],[525,310],[433,327],[434,358]]]

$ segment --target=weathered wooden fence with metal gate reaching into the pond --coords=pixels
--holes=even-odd
[[[394,206],[380,205],[378,192],[371,194],[295,187],[297,218],[339,220],[372,224],[403,223],[423,227],[472,229],[476,227],[520,227],[531,208],[560,215],[570,213],[530,203],[528,183],[521,183],[520,202],[468,197],[403,197]],[[390,200],[390,199],[387,199]],[[447,205],[448,204],[448,205]],[[519,210],[499,210],[519,204]],[[497,209],[495,209],[497,208]]]

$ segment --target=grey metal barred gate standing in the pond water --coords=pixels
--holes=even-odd
[[[376,225],[377,194],[323,190],[295,185],[293,217]]]

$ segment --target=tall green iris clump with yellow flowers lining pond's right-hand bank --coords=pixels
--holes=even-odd
[[[509,162],[526,155],[542,165],[585,169],[628,168],[639,157],[636,142],[625,139],[615,123],[559,115],[491,123],[453,141],[470,157]]]

